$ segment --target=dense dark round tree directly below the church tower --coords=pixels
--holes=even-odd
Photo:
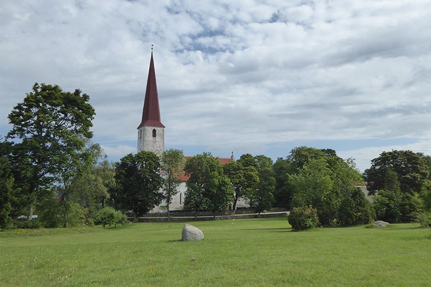
[[[127,154],[115,167],[115,189],[111,197],[122,210],[132,210],[138,216],[159,205],[163,199],[159,157],[149,151]]]

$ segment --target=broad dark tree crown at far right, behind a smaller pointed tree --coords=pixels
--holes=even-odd
[[[419,193],[430,176],[426,157],[411,150],[383,151],[371,163],[364,172],[370,194],[385,189],[385,175],[390,167],[397,174],[402,193]]]

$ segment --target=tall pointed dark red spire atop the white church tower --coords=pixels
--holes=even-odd
[[[154,70],[153,51],[151,51],[150,70],[148,71],[147,91],[145,92],[142,126],[163,127],[160,120],[159,96],[157,94],[156,71]]]

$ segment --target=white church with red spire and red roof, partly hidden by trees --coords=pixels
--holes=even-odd
[[[159,95],[157,93],[156,71],[154,69],[153,51],[151,51],[150,70],[148,71],[147,89],[145,92],[144,108],[142,111],[142,120],[138,126],[138,152],[152,151],[158,156],[161,156],[164,151],[164,128],[160,117]],[[190,156],[185,156],[187,160]],[[226,164],[233,159],[231,157],[219,157],[221,164]],[[184,174],[181,176],[182,183],[179,186],[179,192],[172,198],[169,205],[169,210],[182,210],[184,204],[184,196],[186,195],[186,182],[189,176]],[[162,206],[166,202],[162,202],[160,206],[156,206],[151,212],[163,212]],[[248,208],[250,205],[247,200],[239,199],[237,208]],[[226,209],[229,209],[227,207]]]

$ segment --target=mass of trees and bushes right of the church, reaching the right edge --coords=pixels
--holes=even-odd
[[[334,150],[296,147],[274,163],[275,204],[291,210],[295,229],[320,225],[420,221],[430,224],[431,157],[410,150],[382,152],[361,175]],[[358,186],[367,186],[372,202]]]

